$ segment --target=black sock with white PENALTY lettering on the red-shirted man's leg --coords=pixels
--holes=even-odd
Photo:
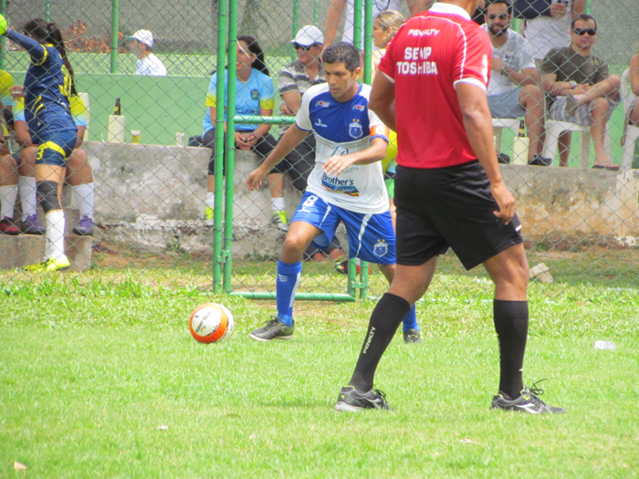
[[[382,354],[391,344],[391,340],[408,314],[411,305],[403,297],[385,293],[377,306],[372,310],[364,344],[361,346],[360,358],[357,359],[355,371],[352,373],[351,386],[366,392],[372,389],[377,364]]]

